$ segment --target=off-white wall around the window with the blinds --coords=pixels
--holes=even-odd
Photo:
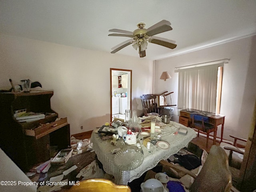
[[[178,42],[177,42],[178,44]],[[174,68],[202,62],[230,58],[224,64],[220,114],[226,115],[224,138],[234,135],[247,138],[256,100],[256,36],[234,40],[225,44],[181,54],[156,61],[155,92],[174,91],[173,104],[178,100],[178,73]],[[160,80],[163,71],[170,73],[171,79]],[[177,108],[175,121],[178,122]],[[217,136],[220,136],[218,127]]]

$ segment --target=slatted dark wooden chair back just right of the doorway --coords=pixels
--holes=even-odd
[[[146,95],[140,96],[140,99],[142,102],[144,116],[148,116],[148,113],[157,113],[158,114],[156,95],[146,94]]]

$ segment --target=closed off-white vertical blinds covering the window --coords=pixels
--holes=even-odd
[[[175,70],[178,72],[178,108],[216,113],[218,67],[223,63]]]

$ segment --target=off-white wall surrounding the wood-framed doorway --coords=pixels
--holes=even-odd
[[[152,92],[153,62],[0,34],[0,89],[29,78],[54,90],[52,110],[67,117],[71,134],[110,121],[110,68],[132,70],[132,110],[142,112],[140,96]],[[83,126],[83,130],[80,129]]]

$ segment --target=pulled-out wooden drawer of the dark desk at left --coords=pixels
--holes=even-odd
[[[39,126],[35,129],[26,129],[25,134],[28,136],[34,136],[36,139],[41,138],[42,136],[45,136],[59,128],[62,128],[63,126],[66,126],[68,124],[67,118],[61,118],[60,120],[56,120],[54,122],[51,122],[49,124],[42,124],[42,126]]]

